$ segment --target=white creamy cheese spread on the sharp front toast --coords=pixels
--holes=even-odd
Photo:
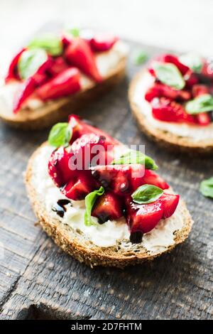
[[[123,146],[116,148],[116,155]],[[124,146],[125,147],[125,146]],[[107,221],[102,225],[84,225],[84,200],[71,200],[72,205],[66,206],[64,217],[59,217],[52,210],[58,200],[65,198],[59,188],[57,188],[48,174],[48,159],[53,151],[51,146],[43,146],[40,153],[33,161],[33,186],[35,187],[40,200],[45,203],[45,210],[50,217],[60,220],[62,224],[69,225],[74,230],[80,230],[87,238],[99,247],[110,247],[121,242],[121,247],[129,245],[129,228],[124,217],[117,221]],[[97,222],[96,218],[93,217]],[[149,252],[160,252],[174,244],[174,232],[180,230],[183,225],[182,215],[178,207],[174,215],[166,220],[160,220],[158,225],[149,233],[143,235],[143,241],[138,244],[145,247]]]

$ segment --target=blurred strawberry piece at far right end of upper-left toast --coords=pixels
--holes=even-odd
[[[90,45],[95,52],[107,51],[118,41],[118,38],[110,33],[97,33],[91,39]]]

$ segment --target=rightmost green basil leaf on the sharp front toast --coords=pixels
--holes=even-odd
[[[148,204],[158,200],[163,194],[163,190],[155,185],[145,184],[141,185],[131,195],[133,202],[138,204]]]

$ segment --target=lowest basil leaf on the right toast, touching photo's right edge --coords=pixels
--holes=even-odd
[[[210,94],[200,95],[185,104],[188,114],[200,114],[200,112],[211,112],[213,110],[213,96]]]

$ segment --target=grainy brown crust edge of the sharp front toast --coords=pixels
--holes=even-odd
[[[46,145],[44,143],[43,145]],[[43,146],[42,145],[42,146]],[[42,147],[40,146],[40,147]],[[163,252],[148,254],[148,252],[128,252],[126,254],[119,254],[118,252],[114,252],[113,247],[101,248],[94,245],[91,249],[89,247],[85,247],[84,245],[77,242],[77,239],[70,239],[67,235],[66,225],[62,227],[55,224],[53,220],[48,217],[48,213],[45,212],[45,208],[43,207],[42,203],[38,198],[38,194],[36,193],[35,188],[33,187],[33,160],[37,154],[39,154],[40,148],[35,150],[33,155],[28,161],[28,167],[26,170],[26,188],[28,192],[28,197],[31,200],[31,204],[33,207],[33,211],[35,215],[38,217],[38,221],[40,225],[43,227],[43,230],[47,232],[47,234],[53,238],[55,244],[65,251],[67,254],[70,254],[72,257],[77,259],[80,262],[84,262],[88,266],[115,266],[119,268],[124,268],[125,266],[134,265],[134,264],[141,264],[147,260],[153,260],[155,257],[160,256],[165,252],[170,252],[177,244],[180,244],[185,241],[188,237],[191,227],[192,227],[192,217],[188,212],[185,203],[182,201],[182,210],[184,212],[184,225],[182,230],[178,230],[175,232],[175,244],[168,247]],[[62,223],[60,223],[62,225]]]

